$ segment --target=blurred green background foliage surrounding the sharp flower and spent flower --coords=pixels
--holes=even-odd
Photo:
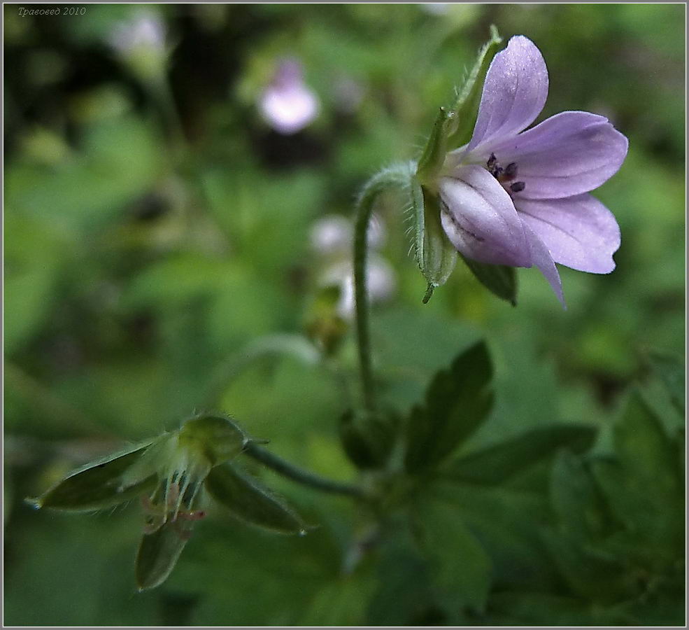
[[[78,6],[3,7],[5,622],[682,624],[684,6]],[[385,200],[381,388],[404,412],[483,337],[496,402],[462,452],[553,423],[599,428],[595,447],[436,486],[425,553],[404,526],[367,542],[347,498],[266,475],[317,530],[271,538],[215,514],[169,582],[135,594],[137,510],[22,498],[207,408],[355,477],[337,437],[358,393],[346,221],[376,169],[418,157],[491,23],[544,54],[539,120],[592,111],[629,137],[595,193],[622,229],[618,267],[561,269],[562,311],[533,270],[513,308],[458,265],[424,306]],[[284,59],[318,103],[290,133],[261,113]]]

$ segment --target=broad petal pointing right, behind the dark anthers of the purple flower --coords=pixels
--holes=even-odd
[[[563,111],[491,150],[501,164],[516,163],[526,184],[519,197],[555,199],[598,188],[618,172],[627,145],[604,116]]]

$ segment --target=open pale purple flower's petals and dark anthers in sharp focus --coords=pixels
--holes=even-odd
[[[535,265],[564,305],[555,262],[595,274],[615,268],[620,228],[589,195],[615,174],[627,138],[603,116],[541,113],[548,71],[524,36],[495,55],[469,144],[448,153],[438,182],[443,229],[467,258]]]

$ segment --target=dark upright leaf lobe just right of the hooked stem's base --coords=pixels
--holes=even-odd
[[[425,404],[412,409],[407,429],[405,467],[418,472],[439,465],[488,417],[493,402],[493,368],[485,342],[438,372]]]

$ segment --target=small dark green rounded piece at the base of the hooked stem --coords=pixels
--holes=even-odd
[[[339,423],[340,440],[357,468],[382,468],[395,444],[399,419],[391,413],[346,411]]]

